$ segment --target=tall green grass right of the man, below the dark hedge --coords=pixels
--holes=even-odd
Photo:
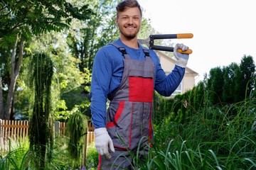
[[[155,127],[154,152],[171,150],[169,159],[180,162],[171,169],[256,169],[255,103],[255,98],[223,107],[206,103],[183,124],[166,118]]]

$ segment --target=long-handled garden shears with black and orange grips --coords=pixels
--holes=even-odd
[[[161,50],[161,51],[169,51],[174,52],[174,47],[165,47],[160,45],[154,45],[154,40],[159,39],[174,39],[174,38],[193,38],[192,33],[180,33],[180,34],[156,34],[156,35],[149,35],[149,38],[146,40],[138,39],[138,42],[140,44],[145,44],[149,49],[151,50]],[[182,54],[191,54],[192,50],[188,49],[186,51],[182,51],[181,49],[178,49],[178,52]]]

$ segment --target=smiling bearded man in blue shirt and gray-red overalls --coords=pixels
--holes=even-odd
[[[136,0],[117,5],[116,24],[119,39],[97,52],[92,68],[90,108],[99,169],[132,169],[131,153],[139,152],[139,159],[145,159],[153,140],[154,90],[170,96],[181,83],[188,61],[188,55],[177,52],[188,47],[177,44],[176,66],[166,76],[156,53],[139,45],[142,10]]]

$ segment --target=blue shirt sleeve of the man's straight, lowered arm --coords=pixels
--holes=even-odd
[[[107,94],[112,76],[112,63],[107,50],[100,49],[95,55],[92,66],[92,82],[90,91],[90,110],[92,124],[95,128],[106,126]]]

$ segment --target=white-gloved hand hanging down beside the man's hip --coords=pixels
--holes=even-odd
[[[95,132],[95,147],[97,152],[101,155],[105,155],[107,159],[110,159],[110,153],[108,152],[108,148],[114,152],[114,145],[110,138],[110,135],[107,132],[106,128],[96,128]]]

